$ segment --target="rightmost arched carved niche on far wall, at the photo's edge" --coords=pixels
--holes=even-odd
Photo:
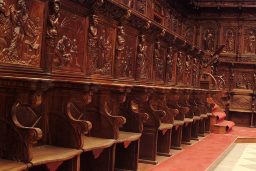
[[[245,54],[255,54],[255,29],[247,29],[245,31],[245,38],[244,38],[244,53]]]

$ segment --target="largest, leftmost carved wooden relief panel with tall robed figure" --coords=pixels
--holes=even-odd
[[[45,4],[0,0],[0,62],[40,66]]]

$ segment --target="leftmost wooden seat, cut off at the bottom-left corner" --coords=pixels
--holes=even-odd
[[[22,162],[15,162],[0,158],[0,171],[23,171],[27,169],[27,167],[28,166]]]

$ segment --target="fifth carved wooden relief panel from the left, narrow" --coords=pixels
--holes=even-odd
[[[150,79],[151,62],[152,62],[152,43],[145,41],[144,46],[145,55],[141,59],[141,78]]]

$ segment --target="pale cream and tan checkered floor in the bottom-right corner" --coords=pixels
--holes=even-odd
[[[237,143],[214,171],[256,171],[256,143]]]

